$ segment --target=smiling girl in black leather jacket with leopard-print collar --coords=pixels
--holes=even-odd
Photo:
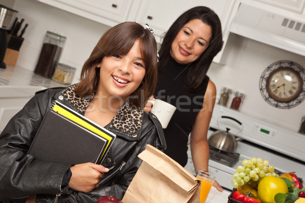
[[[157,75],[157,45],[148,29],[125,22],[107,30],[84,63],[80,83],[37,92],[1,133],[0,200],[29,195],[27,202],[123,198],[141,164],[137,155],[147,144],[166,147],[160,123],[143,111]],[[101,165],[63,164],[26,155],[55,100],[116,134]],[[115,168],[120,170],[110,175]],[[107,181],[99,185],[104,174],[109,174]]]

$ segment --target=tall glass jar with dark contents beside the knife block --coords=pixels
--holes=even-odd
[[[66,37],[47,31],[34,73],[51,78],[65,42]]]

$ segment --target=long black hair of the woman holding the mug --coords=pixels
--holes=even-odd
[[[190,91],[196,92],[201,89],[202,81],[206,76],[213,58],[222,49],[223,41],[221,22],[218,15],[214,11],[204,6],[194,7],[176,19],[176,21],[170,26],[166,35],[164,36],[159,52],[159,67],[162,69],[166,66],[170,56],[172,42],[176,38],[180,29],[186,23],[194,19],[199,19],[203,23],[209,25],[212,32],[211,39],[207,48],[203,51],[197,60],[191,62],[189,65],[189,70],[186,77],[187,88]]]

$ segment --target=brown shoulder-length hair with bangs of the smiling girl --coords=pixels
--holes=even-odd
[[[157,43],[148,29],[135,22],[120,23],[104,33],[82,67],[77,93],[80,96],[92,95],[97,90],[100,80],[100,69],[96,66],[104,57],[114,54],[126,55],[136,40],[140,41],[145,76],[140,86],[131,94],[130,104],[143,107],[143,101],[153,95],[157,83]]]

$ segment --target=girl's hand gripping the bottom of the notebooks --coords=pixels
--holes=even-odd
[[[109,172],[109,168],[94,163],[82,163],[70,167],[72,176],[69,188],[81,192],[90,192],[99,187],[98,183]]]

